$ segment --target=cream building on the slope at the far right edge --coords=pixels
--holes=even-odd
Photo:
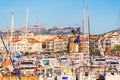
[[[120,34],[117,31],[106,33],[100,36],[98,42],[98,48],[101,53],[104,53],[106,55],[110,54],[114,46],[120,44]]]

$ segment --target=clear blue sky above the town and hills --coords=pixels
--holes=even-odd
[[[120,0],[86,0],[90,32],[101,34],[117,29],[120,24]],[[0,0],[0,30],[10,29],[14,11],[15,28],[40,21],[41,27],[82,27],[83,0]]]

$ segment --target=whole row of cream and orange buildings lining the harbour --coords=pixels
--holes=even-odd
[[[88,53],[89,49],[92,51],[100,50],[101,53],[108,54],[116,44],[120,44],[119,32],[108,32],[106,34],[97,36],[90,35],[90,42],[88,42],[87,35],[80,35],[80,42],[74,43],[75,35],[28,35],[15,36],[10,41],[9,36],[3,37],[7,48],[12,52],[82,52]],[[0,41],[2,44],[2,42]],[[89,48],[90,46],[90,48]],[[3,45],[0,45],[0,52],[4,52]]]

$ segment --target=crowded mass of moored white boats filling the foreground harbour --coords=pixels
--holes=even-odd
[[[104,58],[106,59],[104,60],[105,64],[100,64],[100,62],[96,64],[96,62],[94,63],[93,61],[91,68],[89,63],[83,64],[81,62],[81,57],[78,56],[78,54],[80,53],[74,53],[73,55],[65,54],[64,58],[61,58],[61,56],[58,57],[58,55],[21,55],[21,62],[15,61],[15,67],[20,73],[21,80],[99,80],[99,78],[109,80],[110,77],[114,78],[114,76],[114,80],[119,80],[120,62],[118,62],[117,65],[108,65],[107,58]],[[29,59],[24,60],[24,58]],[[116,60],[116,58],[114,59]],[[114,59],[112,60],[114,61]],[[2,76],[6,78],[6,80],[15,80],[17,78],[16,71],[7,70],[9,70],[7,67],[1,69]]]

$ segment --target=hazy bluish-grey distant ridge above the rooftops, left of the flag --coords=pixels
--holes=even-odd
[[[28,33],[34,33],[35,35],[38,34],[72,34],[71,31],[74,28],[72,27],[63,27],[63,28],[58,28],[58,27],[53,27],[53,28],[39,28],[39,27],[33,27],[33,28],[28,28]],[[4,30],[0,31],[3,35],[10,34],[10,30]],[[15,29],[14,35],[21,35],[26,33],[26,28],[19,28]]]

